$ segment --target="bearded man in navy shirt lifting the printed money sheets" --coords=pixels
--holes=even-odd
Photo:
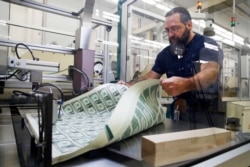
[[[184,103],[190,113],[191,110],[192,113],[198,110],[199,105],[208,107],[214,99],[218,99],[222,50],[213,39],[192,31],[191,16],[182,7],[173,8],[166,14],[165,32],[170,46],[157,55],[151,71],[135,81],[119,83],[130,86],[145,79],[160,79],[166,73],[167,79],[161,79],[160,84],[174,97],[179,110]],[[195,114],[188,116],[190,121],[196,121]],[[209,115],[207,120],[211,125]]]

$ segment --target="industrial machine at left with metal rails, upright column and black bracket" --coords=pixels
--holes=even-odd
[[[36,166],[39,164],[41,166],[51,166],[52,125],[55,124],[56,119],[59,119],[61,116],[60,107],[63,101],[66,100],[66,98],[70,99],[93,88],[96,34],[92,26],[93,24],[95,24],[95,26],[107,26],[109,27],[107,29],[110,30],[112,24],[109,20],[92,19],[95,4],[93,0],[87,0],[85,2],[84,10],[82,9],[79,12],[72,12],[70,14],[67,14],[67,11],[62,12],[62,9],[38,2],[8,1],[8,3],[27,6],[49,13],[56,13],[80,21],[80,26],[73,35],[73,37],[75,37],[75,48],[60,48],[56,46],[36,45],[28,42],[20,43],[3,38],[0,39],[0,90],[2,94],[0,114],[3,113],[4,115],[6,107],[10,108],[20,165]],[[10,26],[14,25],[22,28],[56,33],[53,30],[17,25],[13,22],[8,22],[7,24]],[[71,35],[66,34],[66,36]],[[8,50],[8,48],[11,50]],[[20,54],[20,51],[22,51],[22,53],[25,51],[31,58],[23,58],[23,54]],[[60,69],[60,63],[56,61],[39,60],[36,54],[34,54],[34,51],[73,55],[73,64],[68,66],[68,74],[66,76],[47,75],[45,72],[60,72],[60,70],[62,70]],[[16,55],[8,56],[9,53],[15,53]],[[103,54],[98,55],[98,57],[99,60],[101,59],[102,61],[105,58]],[[104,82],[102,78],[98,80],[100,80],[101,83]],[[46,81],[50,82],[47,83]],[[68,90],[70,90],[69,93],[67,92]],[[67,97],[64,96],[65,92]],[[18,109],[22,106],[35,109],[40,116],[40,137],[38,141],[34,140],[25,125],[23,114],[20,113]],[[2,119],[0,121],[2,122]],[[21,127],[18,126],[19,121],[21,121]],[[25,139],[23,140],[22,138]],[[25,151],[26,148],[24,148],[27,143],[22,141],[30,141],[30,139],[31,142],[28,142],[28,147],[32,152],[27,153]],[[7,148],[7,150],[9,149],[8,147],[5,148]],[[8,163],[8,161],[4,160],[5,155],[7,154],[1,156],[3,158],[1,162]],[[25,156],[30,156],[30,161],[26,161]]]

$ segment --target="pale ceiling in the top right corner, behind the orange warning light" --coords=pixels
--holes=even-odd
[[[196,0],[175,0],[177,5],[187,8],[190,12],[197,12],[196,2]],[[231,17],[235,16],[234,33],[243,38],[250,36],[250,0],[202,0],[202,4],[200,12],[214,18],[216,24],[231,31]]]

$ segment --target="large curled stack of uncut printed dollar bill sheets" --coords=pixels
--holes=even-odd
[[[159,80],[126,87],[108,83],[64,102],[53,125],[52,164],[107,146],[163,122]],[[38,139],[37,114],[26,114]]]

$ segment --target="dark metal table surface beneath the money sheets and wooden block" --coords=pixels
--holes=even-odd
[[[13,115],[13,125],[16,135],[17,148],[19,151],[21,166],[34,166],[35,157],[34,151],[31,148],[31,136],[28,133],[28,129],[22,126],[23,118],[22,114]],[[141,158],[141,137],[144,135],[178,132],[184,130],[190,130],[193,127],[188,122],[173,121],[166,119],[162,124],[156,125],[148,130],[145,130],[139,134],[131,136],[123,141],[114,143],[101,149],[93,150],[88,153],[82,154],[71,160],[55,164],[55,167],[64,166],[102,166],[102,167],[124,167],[124,166],[136,166],[136,167],[147,167]],[[196,128],[207,128],[207,125],[197,124]],[[229,150],[236,149],[242,145],[250,143],[249,135],[239,134],[232,141],[231,145],[227,148],[222,148],[220,151],[214,152],[210,155],[199,157],[197,159],[180,162],[168,166],[191,166],[198,164],[204,160],[221,155]]]

